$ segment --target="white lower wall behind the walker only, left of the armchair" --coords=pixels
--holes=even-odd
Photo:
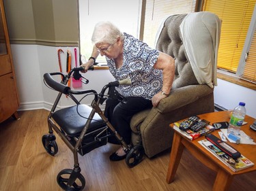
[[[66,50],[72,53],[72,67],[74,67],[74,48],[59,47],[64,51],[61,53],[61,66],[66,71]],[[57,92],[47,88],[43,82],[44,73],[59,71],[57,50],[59,48],[38,45],[12,45],[12,56],[14,69],[20,97],[20,108],[18,110],[51,109]],[[79,55],[79,49],[77,55]],[[79,61],[79,59],[78,59]],[[100,92],[101,88],[113,77],[108,70],[88,71],[83,74],[89,80],[89,84],[83,84],[80,89],[94,89]],[[54,77],[60,81],[60,77]],[[71,84],[72,87],[72,84]],[[79,88],[77,88],[79,90]],[[81,99],[82,96],[79,96]],[[61,97],[59,107],[72,105],[70,98]],[[86,98],[83,103],[90,105],[91,97]]]

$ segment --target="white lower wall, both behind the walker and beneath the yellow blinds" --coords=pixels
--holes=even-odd
[[[46,72],[59,71],[57,50],[59,48],[38,45],[12,45],[14,69],[16,72],[18,93],[20,97],[19,110],[50,109],[55,101],[57,92],[47,88],[43,82]],[[61,48],[65,54],[61,54],[62,68],[66,69],[66,50],[72,54],[74,48]],[[79,52],[78,52],[79,54]],[[74,56],[72,57],[74,66]],[[107,70],[88,71],[84,74],[89,84],[83,88],[95,89],[97,92],[113,81],[112,75]],[[226,109],[233,109],[240,101],[246,103],[249,116],[256,118],[256,91],[243,86],[238,86],[225,80],[218,79],[218,86],[214,88],[214,102]],[[85,104],[90,104],[91,99],[85,99]],[[62,97],[59,107],[71,105],[69,98]]]

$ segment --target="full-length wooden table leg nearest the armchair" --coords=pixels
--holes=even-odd
[[[182,137],[174,133],[173,136],[173,145],[171,147],[170,161],[167,172],[167,183],[170,184],[175,176],[177,171],[177,167],[180,164],[180,158],[182,158],[182,152],[184,149],[184,145],[182,145]]]

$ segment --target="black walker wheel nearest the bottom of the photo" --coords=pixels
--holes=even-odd
[[[76,177],[76,180],[72,184],[72,186],[68,186],[68,179],[70,178],[70,175],[72,173],[72,169],[63,169],[59,172],[57,175],[57,182],[59,186],[66,191],[80,191],[85,188],[85,178],[81,173],[78,174],[78,177]]]

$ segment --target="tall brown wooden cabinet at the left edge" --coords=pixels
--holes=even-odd
[[[0,122],[13,116],[18,119],[16,78],[3,0],[0,0]]]

